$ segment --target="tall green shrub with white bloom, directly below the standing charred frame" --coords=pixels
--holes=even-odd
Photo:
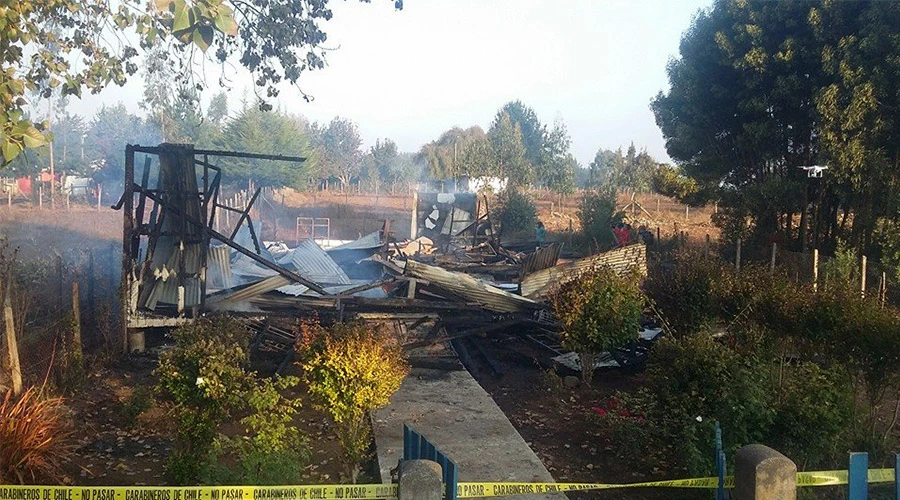
[[[167,475],[175,484],[197,481],[219,425],[244,404],[252,387],[247,365],[249,334],[227,318],[201,319],[172,331],[175,347],[163,354],[158,392],[176,421],[175,450]]]

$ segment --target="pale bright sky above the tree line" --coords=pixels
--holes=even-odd
[[[390,138],[418,151],[445,130],[487,130],[508,101],[532,107],[542,123],[561,120],[572,153],[587,166],[600,148],[634,142],[660,161],[665,143],[650,100],[668,89],[666,64],[682,33],[711,0],[332,0],[328,66],[304,73],[307,103],[285,85],[273,105],[311,121],[335,116],[359,125],[364,147]],[[252,96],[239,68],[228,90],[232,110]],[[208,75],[217,91],[218,73]],[[143,114],[143,82],[70,102],[92,116],[122,102]]]

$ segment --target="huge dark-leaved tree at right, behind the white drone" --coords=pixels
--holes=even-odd
[[[849,222],[863,249],[896,217],[898,27],[881,2],[719,0],[697,16],[652,109],[669,156],[726,208],[720,224],[746,216],[757,241],[780,232],[803,250]],[[814,164],[824,180],[797,168]]]

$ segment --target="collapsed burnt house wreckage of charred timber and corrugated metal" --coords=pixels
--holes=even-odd
[[[566,365],[571,356],[546,303],[553,286],[597,265],[646,275],[642,243],[563,262],[561,243],[513,251],[495,237],[487,198],[466,192],[416,192],[408,239],[385,220],[327,250],[313,238],[294,247],[264,241],[261,207],[278,204],[252,181],[241,203],[226,200],[228,164],[238,159],[304,161],[189,144],[126,147],[124,193],[113,207],[124,213],[126,350],[136,332],[230,314],[256,332],[255,351],[290,357],[294,322],[316,315],[392,325],[413,364],[457,369],[457,358],[477,355],[499,374],[473,339],[515,332]],[[639,362],[655,336],[647,332],[602,359]]]

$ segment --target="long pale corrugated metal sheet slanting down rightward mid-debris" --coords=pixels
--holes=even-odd
[[[500,290],[464,273],[455,273],[416,261],[406,261],[404,274],[423,279],[431,285],[450,291],[467,301],[478,303],[488,311],[499,313],[540,309],[537,302]]]

